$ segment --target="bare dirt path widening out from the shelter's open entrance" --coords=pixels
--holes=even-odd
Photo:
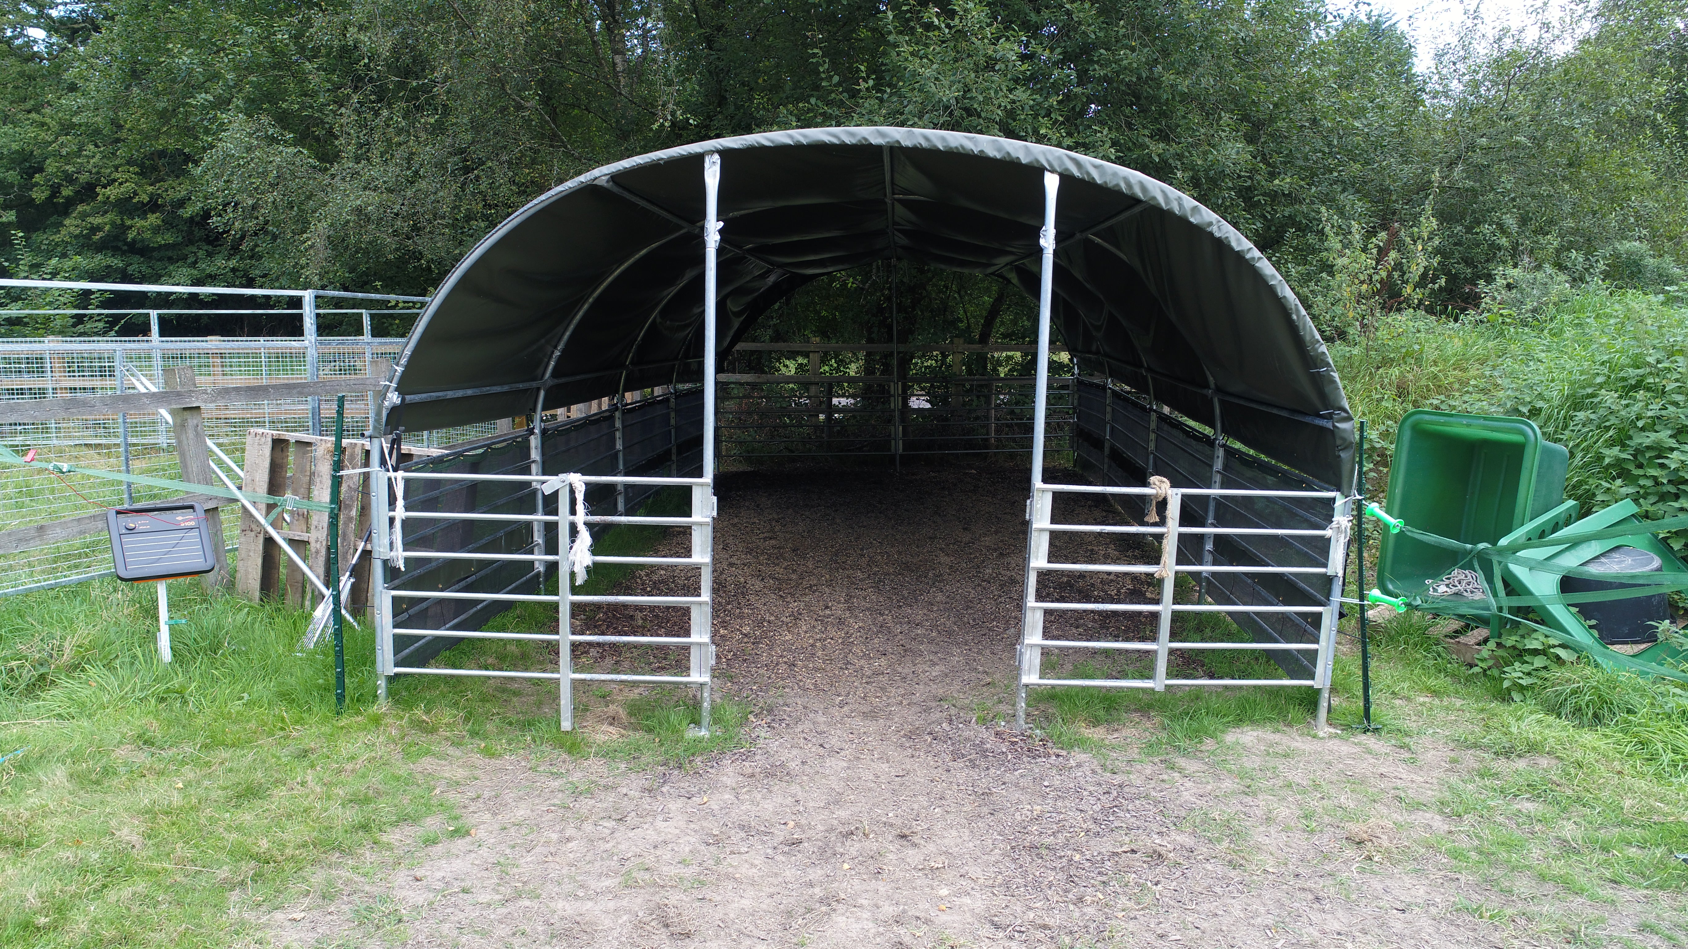
[[[751,745],[690,772],[464,765],[442,787],[474,836],[397,838],[275,914],[277,942],[1518,946],[1563,935],[1470,907],[1595,912],[1425,846],[1447,780],[1512,765],[1295,731],[1104,763],[976,724],[1013,675],[1023,496],[991,471],[726,480],[719,664],[763,709]]]

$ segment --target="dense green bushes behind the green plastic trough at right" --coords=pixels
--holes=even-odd
[[[1531,316],[1386,316],[1332,346],[1374,485],[1408,409],[1523,415],[1570,449],[1566,495],[1585,510],[1632,500],[1688,513],[1688,309],[1681,297],[1588,285]],[[1678,532],[1673,545],[1685,549]]]

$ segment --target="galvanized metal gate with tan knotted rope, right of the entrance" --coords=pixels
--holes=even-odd
[[[1150,505],[1165,500],[1166,508],[1160,525],[1101,525],[1101,523],[1057,523],[1053,520],[1055,496],[1072,495],[1109,495],[1114,498],[1141,498]],[[1182,525],[1185,498],[1296,498],[1303,502],[1328,502],[1330,523],[1323,530],[1315,529],[1281,529],[1281,527],[1219,527],[1210,517],[1202,525]],[[1153,689],[1165,691],[1166,686],[1308,686],[1320,691],[1318,728],[1325,726],[1325,708],[1330,689],[1330,660],[1337,628],[1339,594],[1342,593],[1342,567],[1347,554],[1347,525],[1350,502],[1335,491],[1252,491],[1252,490],[1215,490],[1215,488],[1123,488],[1092,485],[1045,485],[1033,486],[1030,517],[1030,549],[1026,556],[1026,586],[1020,635],[1020,687],[1014,702],[1014,719],[1020,728],[1026,723],[1026,689],[1040,686],[1089,686],[1111,689]],[[1204,505],[1205,507],[1205,505]],[[1148,564],[1069,564],[1052,562],[1050,537],[1053,534],[1121,534],[1160,539],[1161,556],[1158,562]],[[1200,535],[1205,540],[1215,535],[1271,535],[1271,537],[1323,537],[1328,540],[1328,556],[1318,566],[1219,566],[1178,562],[1182,535]],[[1204,544],[1210,549],[1210,544]],[[1109,572],[1109,574],[1151,574],[1160,581],[1160,599],[1156,603],[1052,603],[1038,598],[1038,574],[1043,572]],[[1330,598],[1315,605],[1220,605],[1178,603],[1178,576],[1202,576],[1220,572],[1249,574],[1318,574],[1328,578]],[[1117,642],[1117,640],[1047,640],[1043,638],[1043,616],[1048,611],[1104,611],[1104,613],[1155,613],[1153,642]],[[1312,643],[1298,642],[1192,642],[1173,640],[1173,616],[1180,613],[1301,613],[1318,616],[1318,638]],[[1084,650],[1124,650],[1146,652],[1155,655],[1155,670],[1141,679],[1043,679],[1045,648],[1084,648]],[[1308,665],[1313,669],[1310,679],[1171,679],[1166,675],[1166,659],[1173,650],[1295,650],[1312,652],[1315,657]]]

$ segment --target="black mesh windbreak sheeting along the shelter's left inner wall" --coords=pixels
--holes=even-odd
[[[623,409],[621,447],[616,449],[616,409],[552,422],[540,432],[545,474],[626,474],[695,478],[702,468],[704,393],[701,388],[635,402]],[[555,517],[567,491],[540,495],[520,481],[466,481],[454,474],[528,474],[532,441],[528,431],[484,439],[446,454],[417,459],[405,471],[439,474],[405,483],[407,512],[451,513],[535,513],[535,498]],[[650,486],[628,486],[626,512],[652,495]],[[599,513],[619,510],[614,485],[591,485],[587,505]],[[542,522],[545,554],[557,552],[555,520]],[[547,576],[530,561],[446,561],[429,550],[473,554],[533,554],[532,522],[405,518],[405,569],[390,571],[393,626],[412,630],[479,630],[510,603],[488,599],[441,599],[447,593],[537,593]],[[425,665],[441,652],[463,642],[457,637],[393,637],[393,665]]]

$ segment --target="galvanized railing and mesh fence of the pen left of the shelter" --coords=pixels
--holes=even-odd
[[[385,371],[403,346],[402,338],[373,336],[375,323],[407,324],[420,297],[333,294],[378,301],[370,307],[317,307],[317,290],[253,290],[231,287],[149,287],[0,280],[0,292],[25,294],[149,294],[284,297],[292,307],[164,309],[164,307],[19,307],[0,309],[0,407],[42,400],[105,397],[165,388],[165,373],[191,366],[197,387],[250,387],[307,380],[368,377]],[[0,304],[3,306],[3,304]],[[381,309],[388,307],[388,309]],[[398,307],[398,309],[393,309]],[[299,336],[167,336],[176,317],[206,317],[238,326],[297,321]],[[95,321],[116,333],[145,336],[8,336],[56,321]],[[322,336],[321,329],[344,333]],[[348,400],[346,427],[368,427],[370,399]],[[216,404],[201,412],[216,461],[235,478],[245,464],[246,432],[268,429],[321,434],[321,399]],[[493,424],[425,432],[424,444],[449,444],[490,432]],[[0,420],[0,444],[42,461],[62,461],[128,474],[181,480],[169,410],[98,412],[30,420]],[[122,483],[39,468],[0,466],[0,594],[25,593],[108,576],[110,550],[103,534],[59,537],[52,530],[78,515],[157,502],[169,488]],[[225,518],[225,542],[235,544],[240,518]],[[42,542],[42,539],[47,539]]]

